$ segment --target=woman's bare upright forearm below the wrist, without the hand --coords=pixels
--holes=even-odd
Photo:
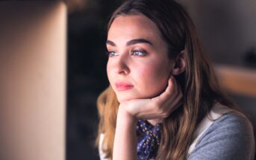
[[[119,107],[113,144],[113,160],[136,160],[137,137],[135,118]]]

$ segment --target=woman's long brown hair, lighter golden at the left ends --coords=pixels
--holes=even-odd
[[[180,4],[172,0],[128,0],[111,16],[108,29],[118,16],[143,14],[157,25],[160,35],[168,45],[169,59],[181,51],[186,70],[176,76],[183,90],[183,104],[163,121],[163,132],[156,159],[186,159],[193,133],[214,103],[219,102],[237,110],[235,104],[222,92],[213,68],[202,51],[199,37],[190,16]],[[109,86],[98,98],[99,136],[104,133],[103,150],[112,159],[116,115],[119,103]]]

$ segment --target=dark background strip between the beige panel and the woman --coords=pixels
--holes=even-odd
[[[81,1],[68,16],[66,159],[99,159],[96,99],[108,86],[107,19],[120,1]]]

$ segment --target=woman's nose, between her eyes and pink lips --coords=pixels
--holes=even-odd
[[[129,74],[130,73],[130,68],[128,64],[128,57],[121,56],[115,57],[114,59],[116,60],[111,60],[113,65],[113,71],[115,74]]]

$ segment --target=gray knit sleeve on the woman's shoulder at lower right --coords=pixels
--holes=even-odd
[[[251,123],[238,113],[229,113],[204,132],[187,160],[252,160],[254,156]]]

